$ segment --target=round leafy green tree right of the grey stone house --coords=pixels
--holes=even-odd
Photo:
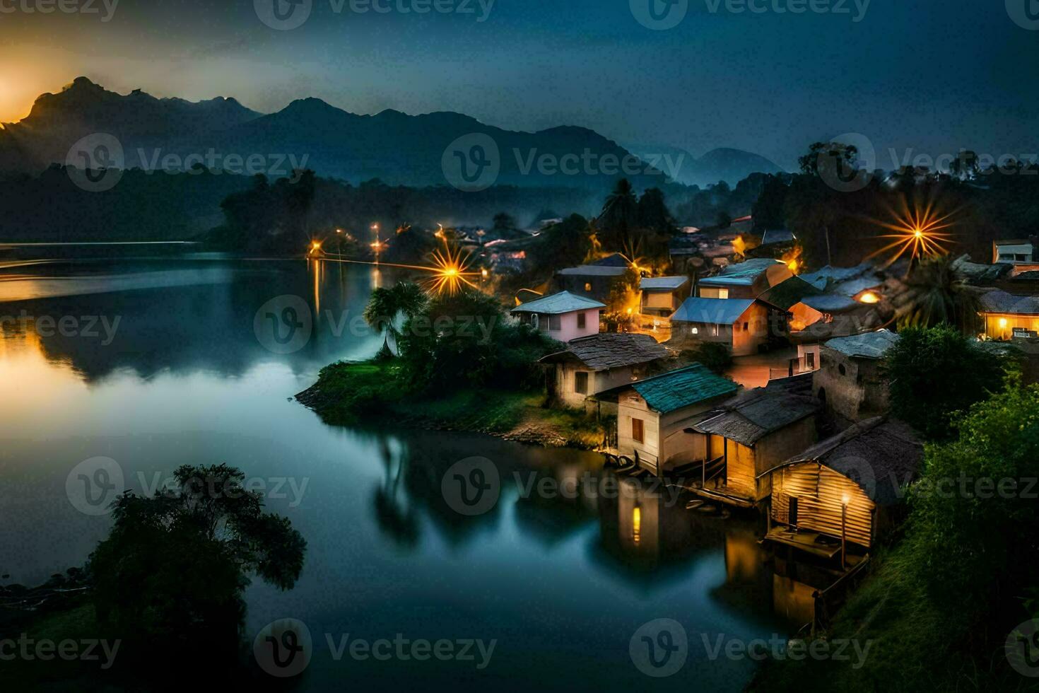
[[[954,412],[1003,385],[1006,364],[949,325],[910,327],[899,337],[883,363],[891,414],[930,439],[949,438]]]

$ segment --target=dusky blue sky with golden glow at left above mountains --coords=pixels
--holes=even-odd
[[[666,30],[640,24],[629,0],[496,0],[482,22],[489,0],[436,0],[472,14],[426,15],[396,9],[423,0],[375,0],[390,14],[312,0],[291,30],[261,22],[254,0],[119,0],[107,22],[104,0],[60,0],[98,14],[25,10],[47,1],[0,0],[0,121],[85,75],[123,94],[234,96],[264,112],[313,96],[356,113],[581,125],[694,155],[744,149],[788,168],[811,141],[847,132],[867,135],[884,168],[888,148],[1039,152],[1039,26],[1011,17],[1029,24],[1033,0],[872,0],[858,22],[865,0],[753,0],[762,14],[672,0],[688,11]],[[847,14],[773,10],[798,2]]]

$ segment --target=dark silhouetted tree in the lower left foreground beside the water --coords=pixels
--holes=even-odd
[[[263,512],[244,478],[227,464],[183,465],[172,488],[121,496],[87,564],[98,619],[150,656],[233,660],[249,577],[292,589],[307,550],[287,518]]]

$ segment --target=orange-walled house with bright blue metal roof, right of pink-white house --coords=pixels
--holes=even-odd
[[[671,316],[676,344],[716,343],[732,355],[757,353],[785,332],[787,312],[753,298],[687,298]]]

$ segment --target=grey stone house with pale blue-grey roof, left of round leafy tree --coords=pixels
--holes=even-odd
[[[820,348],[812,392],[838,424],[887,411],[887,381],[880,362],[899,340],[887,329],[832,339]]]

